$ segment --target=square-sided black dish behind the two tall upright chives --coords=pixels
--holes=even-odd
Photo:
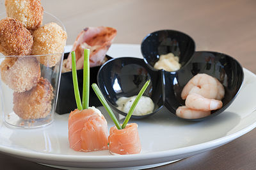
[[[65,53],[64,59],[68,57],[69,53]],[[112,59],[106,56],[107,59]],[[95,95],[92,84],[97,83],[97,74],[99,72],[100,66],[94,66],[90,68],[90,103],[95,107],[100,106],[101,103],[97,96]],[[83,94],[83,69],[77,70],[77,81],[79,86],[80,97]],[[82,100],[82,99],[81,99]],[[58,101],[56,105],[56,112],[58,114],[65,114],[77,108],[76,99],[74,95],[72,72],[61,73],[60,89],[58,95]]]

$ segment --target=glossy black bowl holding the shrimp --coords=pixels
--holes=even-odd
[[[184,100],[180,97],[182,89],[197,73],[207,73],[212,77],[216,77],[221,84],[223,84],[225,88],[225,97],[222,99],[223,107],[212,111],[210,116],[204,118],[180,118],[182,120],[202,121],[225,111],[239,93],[244,79],[243,67],[236,59],[227,54],[210,51],[195,52],[191,61],[175,74],[172,72],[164,72],[164,91],[166,95],[164,106],[175,116],[177,107],[184,105]]]

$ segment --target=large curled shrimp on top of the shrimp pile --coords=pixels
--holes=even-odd
[[[181,98],[185,100],[189,93],[197,93],[205,98],[216,99],[218,95],[218,83],[211,75],[198,73],[184,86]]]

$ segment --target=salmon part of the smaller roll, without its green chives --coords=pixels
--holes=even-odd
[[[127,155],[140,153],[141,144],[138,125],[136,123],[129,123],[121,130],[111,127],[108,142],[109,151],[112,154]]]

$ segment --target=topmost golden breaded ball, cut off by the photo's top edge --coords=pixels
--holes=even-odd
[[[44,8],[40,0],[5,0],[6,15],[17,19],[27,29],[42,25]]]

